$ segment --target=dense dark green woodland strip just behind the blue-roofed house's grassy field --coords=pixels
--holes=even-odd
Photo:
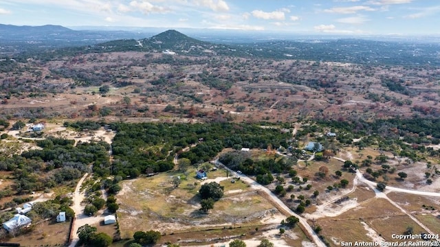
[[[118,133],[113,139],[113,174],[137,176],[164,172],[174,167],[173,158],[188,158],[196,165],[210,161],[223,148],[267,148],[287,145],[289,133],[263,130],[245,124],[111,124]],[[191,147],[188,152],[182,149]],[[94,169],[98,169],[95,167]],[[110,171],[109,171],[110,172]]]

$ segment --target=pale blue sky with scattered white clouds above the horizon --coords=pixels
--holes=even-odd
[[[439,0],[1,0],[0,23],[254,30],[298,34],[440,34]]]

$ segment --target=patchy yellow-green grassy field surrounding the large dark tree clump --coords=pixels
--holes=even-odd
[[[173,188],[170,183],[180,176],[181,184]],[[223,170],[208,173],[209,179],[225,176]],[[121,237],[132,237],[135,231],[160,231],[168,235],[185,235],[206,231],[207,228],[228,228],[247,226],[254,228],[262,224],[264,217],[276,213],[274,206],[241,180],[231,183],[230,179],[220,182],[225,196],[214,204],[209,214],[199,211],[198,190],[201,180],[195,178],[195,170],[187,176],[181,172],[167,172],[147,178],[137,178],[122,182],[118,194],[120,209],[118,219]],[[212,233],[212,237],[211,237]],[[208,231],[210,238],[218,231]],[[193,237],[188,234],[188,237]]]

